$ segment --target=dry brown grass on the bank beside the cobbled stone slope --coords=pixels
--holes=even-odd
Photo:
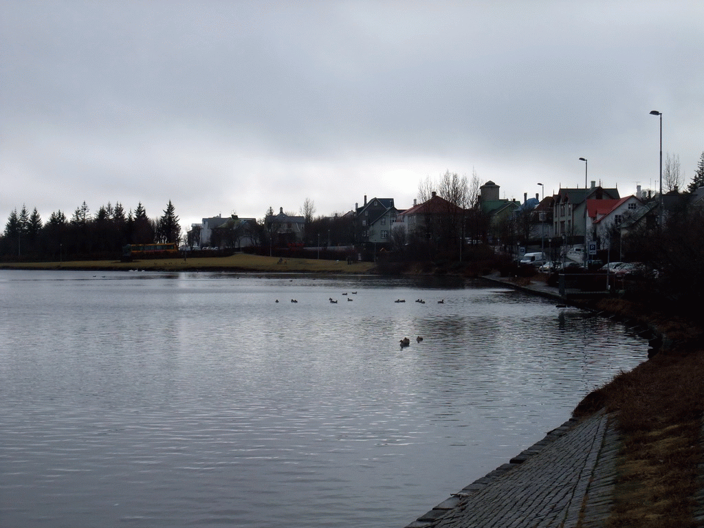
[[[609,527],[694,527],[700,488],[704,352],[658,354],[587,396],[575,414],[604,406],[624,438]]]

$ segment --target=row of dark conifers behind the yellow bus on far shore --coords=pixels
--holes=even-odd
[[[179,218],[171,201],[156,219],[147,216],[141,202],[127,213],[119,202],[114,206],[108,202],[94,215],[83,202],[70,219],[57,210],[46,222],[37,208],[29,213],[23,206],[10,213],[0,237],[0,255],[22,260],[114,258],[125,244],[178,242],[180,237]]]

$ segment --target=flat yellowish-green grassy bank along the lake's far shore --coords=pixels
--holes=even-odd
[[[265,273],[338,273],[360,275],[372,273],[374,263],[346,260],[284,258],[237,253],[227,257],[120,260],[70,260],[68,262],[0,263],[3,270],[94,270],[94,271],[231,271]]]

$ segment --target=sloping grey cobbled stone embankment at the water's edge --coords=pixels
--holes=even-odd
[[[619,439],[608,415],[570,420],[406,528],[597,528],[610,515]]]

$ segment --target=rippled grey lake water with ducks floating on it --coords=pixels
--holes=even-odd
[[[2,527],[400,528],[647,350],[461,279],[0,271],[0,298]]]

